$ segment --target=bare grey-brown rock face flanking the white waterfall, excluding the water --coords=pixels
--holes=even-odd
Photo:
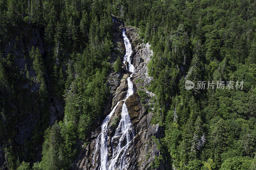
[[[122,38],[122,28],[124,26],[124,22],[116,17],[113,17],[113,19],[115,19],[113,24],[114,44],[116,44],[115,49],[119,50],[119,54],[116,52],[112,53],[112,61],[116,59],[117,55],[120,55],[120,53],[125,51]],[[149,107],[150,102],[152,102],[151,98],[155,98],[155,94],[147,91],[145,88],[145,86],[149,85],[153,79],[152,77],[148,77],[147,67],[150,57],[153,55],[153,51],[150,49],[150,45],[148,43],[139,43],[140,39],[135,28],[130,26],[124,26],[124,28],[126,29],[127,37],[132,43],[133,65],[137,69],[137,74],[131,78],[133,82],[134,94],[132,94],[126,101],[122,101],[122,99],[125,98],[128,89],[126,78],[129,77],[129,74],[127,71],[122,69],[122,73],[109,73],[108,83],[111,89],[111,96],[106,102],[107,104],[102,116],[98,119],[98,126],[93,129],[87,137],[87,141],[90,143],[83,145],[83,150],[80,153],[76,164],[77,169],[79,170],[100,168],[100,153],[99,151],[95,152],[97,136],[100,134],[101,130],[100,125],[106,115],[109,114],[109,112],[120,100],[121,101],[116,107],[116,110],[108,123],[108,158],[112,158],[112,147],[110,141],[121,119],[123,102],[125,102],[127,106],[135,133],[135,137],[131,141],[131,147],[129,148],[125,158],[128,169],[151,169],[155,164],[155,159],[161,155],[161,152],[157,147],[157,144],[159,143],[158,139],[162,135],[161,127],[158,124],[154,125],[150,123],[153,114],[149,111],[152,108]],[[122,59],[123,56],[120,57]],[[143,93],[145,92],[146,96],[144,95],[143,99],[138,94],[138,89],[143,91]],[[163,162],[160,162],[160,164],[157,166],[157,169],[164,168],[168,167],[164,166]]]

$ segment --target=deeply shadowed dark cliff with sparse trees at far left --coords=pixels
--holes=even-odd
[[[3,47],[0,58],[1,74],[4,78],[1,79],[4,85],[0,92],[3,121],[0,137],[1,141],[9,140],[9,145],[13,146],[12,152],[20,159],[39,161],[43,131],[48,125],[52,126],[56,120],[62,119],[64,103],[53,92],[47,72],[42,76],[45,81],[42,81],[34,69],[35,58],[40,59],[38,64],[42,68],[47,58],[42,30],[29,25],[16,26],[16,29],[6,39],[9,43]],[[7,59],[4,59],[6,55]],[[4,151],[5,147],[6,144],[0,144],[0,165],[4,164],[6,153],[10,152]],[[22,155],[20,151],[23,152]]]

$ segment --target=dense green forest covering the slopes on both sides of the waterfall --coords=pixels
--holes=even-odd
[[[253,0],[0,0],[2,168],[73,167],[109,96],[111,14],[139,28],[154,51],[147,88],[156,94],[151,123],[164,127],[158,145],[166,157],[153,167],[166,160],[175,169],[256,169]],[[42,45],[26,46],[32,30]],[[244,87],[187,91],[185,79]],[[52,127],[50,94],[65,106]],[[25,119],[39,121],[19,141]]]

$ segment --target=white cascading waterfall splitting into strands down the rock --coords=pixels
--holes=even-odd
[[[125,69],[132,72],[130,77],[127,78],[128,83],[128,90],[127,94],[125,96],[125,101],[129,96],[133,94],[133,83],[131,81],[131,77],[133,74],[135,74],[135,68],[132,64],[132,45],[129,41],[129,39],[126,36],[125,29],[123,28],[123,38],[124,38],[124,45],[126,48],[126,54],[124,55],[124,61],[123,63],[125,65],[128,64],[128,68]],[[124,102],[122,106],[122,112],[121,112],[121,120],[118,124],[118,127],[116,128],[115,135],[111,139],[111,147],[113,150],[112,153],[112,159],[108,160],[108,123],[110,121],[111,116],[116,110],[116,107],[118,106],[120,101],[117,102],[116,106],[113,108],[113,110],[110,112],[110,114],[104,119],[102,125],[101,125],[101,133],[98,135],[96,140],[96,146],[94,151],[94,161],[96,157],[96,152],[100,150],[100,170],[114,170],[114,169],[127,169],[127,165],[125,162],[125,156],[127,153],[127,150],[129,148],[129,145],[134,138],[134,131],[132,129],[132,122],[130,120],[130,116],[128,113],[128,109],[126,107],[126,104]],[[113,141],[117,141],[117,146],[113,145]]]

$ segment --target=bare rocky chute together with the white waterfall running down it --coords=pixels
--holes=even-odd
[[[158,124],[150,123],[151,98],[155,94],[145,88],[153,79],[148,77],[147,67],[153,51],[148,43],[140,43],[136,28],[125,26],[123,20],[114,16],[112,19],[116,49],[124,53],[120,56],[123,66],[119,73],[109,73],[112,103],[106,105],[103,121],[98,121],[88,135],[90,143],[83,145],[77,169],[151,169],[155,159],[162,156],[157,148],[162,130]],[[112,53],[113,61],[118,53]],[[142,99],[138,89],[146,97]],[[163,168],[160,163],[158,169]]]

